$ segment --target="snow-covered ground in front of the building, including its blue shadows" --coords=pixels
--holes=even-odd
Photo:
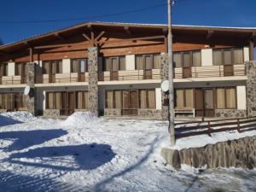
[[[0,126],[1,192],[256,191],[256,170],[165,166],[166,122],[3,113]]]

